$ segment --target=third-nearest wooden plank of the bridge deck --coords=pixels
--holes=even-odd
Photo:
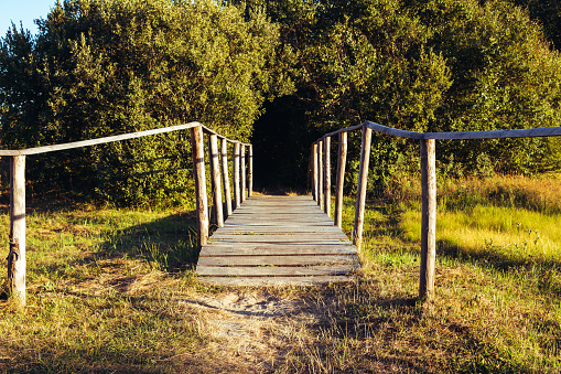
[[[197,266],[306,266],[358,264],[357,255],[199,257]]]

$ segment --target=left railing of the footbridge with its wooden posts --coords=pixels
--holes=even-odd
[[[8,255],[8,282],[13,302],[25,306],[25,157],[54,151],[63,151],[96,145],[138,139],[159,133],[179,130],[191,130],[193,150],[193,172],[195,177],[197,245],[208,241],[209,214],[206,188],[204,136],[208,136],[209,170],[213,193],[213,209],[216,224],[224,226],[224,221],[253,190],[253,152],[252,145],[228,139],[199,122],[170,126],[165,128],[116,135],[105,138],[44,146],[19,150],[0,150],[0,157],[10,157],[10,252]],[[218,151],[220,139],[220,151]],[[233,143],[234,202],[230,196],[228,173],[228,142]],[[246,158],[247,148],[247,158]],[[222,160],[219,160],[222,159]],[[220,162],[222,161],[222,162]],[[247,161],[247,164],[246,164]],[[247,171],[246,171],[247,167]],[[246,183],[247,181],[247,183]],[[223,188],[224,186],[224,190]],[[226,209],[223,205],[223,191]]]

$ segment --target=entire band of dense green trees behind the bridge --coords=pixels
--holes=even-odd
[[[1,42],[2,143],[21,148],[190,120],[246,140],[255,126],[256,177],[301,186],[311,141],[364,120],[414,131],[559,126],[555,7],[65,1],[40,21],[37,36],[13,28]],[[554,14],[546,18],[547,9]],[[359,137],[350,140],[358,152]],[[417,154],[416,142],[376,136],[371,183],[384,188],[398,171],[417,171]],[[56,168],[35,174],[75,175],[126,202],[159,201],[185,190],[188,159],[186,137],[172,135],[48,159]],[[560,168],[561,142],[440,141],[438,159],[443,173],[533,173]],[[161,172],[169,170],[177,171]]]

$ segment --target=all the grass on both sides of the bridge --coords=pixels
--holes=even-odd
[[[0,372],[561,372],[560,182],[439,181],[430,303],[416,300],[420,200],[413,182],[368,202],[356,281],[316,288],[198,284],[192,212],[32,212],[28,308],[0,302]],[[348,199],[348,235],[353,215]],[[0,223],[8,227],[6,212]],[[7,243],[7,234],[0,239]],[[240,339],[237,332],[217,335],[209,328],[216,320],[227,324],[230,314],[193,307],[233,292],[252,295],[259,307],[265,295],[301,300],[300,309],[259,327],[236,314],[230,324],[245,318],[259,330],[250,339],[262,349],[244,353],[227,344]]]

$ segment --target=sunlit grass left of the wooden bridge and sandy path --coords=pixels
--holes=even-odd
[[[28,308],[0,308],[0,371],[175,372],[166,357],[196,351],[201,319],[176,301],[196,289],[191,213],[83,206],[26,222]]]

